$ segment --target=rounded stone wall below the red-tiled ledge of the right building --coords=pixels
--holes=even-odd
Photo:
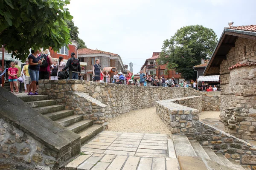
[[[231,70],[228,88],[235,95],[236,106],[221,114],[227,132],[241,139],[256,140],[256,66]]]

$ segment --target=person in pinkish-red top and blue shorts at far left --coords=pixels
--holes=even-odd
[[[19,74],[19,70],[15,68],[15,62],[11,62],[11,67],[8,68],[8,75],[9,75],[9,82],[10,88],[13,93],[13,84],[15,85],[15,93],[18,94],[18,82],[17,82],[17,75]]]

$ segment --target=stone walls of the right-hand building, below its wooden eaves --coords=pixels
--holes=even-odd
[[[226,132],[241,139],[256,140],[253,130],[256,121],[253,115],[249,116],[249,110],[253,109],[256,104],[255,66],[228,70],[238,62],[249,58],[256,58],[256,40],[239,37],[235,42],[235,47],[231,48],[227,54],[227,59],[221,62],[220,118],[225,125]],[[234,121],[236,117],[237,121]]]

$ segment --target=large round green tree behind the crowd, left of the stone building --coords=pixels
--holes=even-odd
[[[201,59],[209,58],[216,43],[217,36],[212,29],[184,26],[170,40],[163,42],[158,62],[167,63],[169,69],[175,69],[184,79],[196,80],[193,66],[201,64]]]

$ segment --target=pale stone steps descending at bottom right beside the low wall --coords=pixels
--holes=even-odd
[[[185,170],[187,167],[199,168],[200,163],[205,164],[206,170],[250,170],[247,166],[238,164],[234,159],[227,159],[222,153],[213,152],[210,147],[202,147],[198,141],[189,141],[185,135],[172,135],[172,139],[180,170]],[[197,157],[202,161],[198,161]]]

